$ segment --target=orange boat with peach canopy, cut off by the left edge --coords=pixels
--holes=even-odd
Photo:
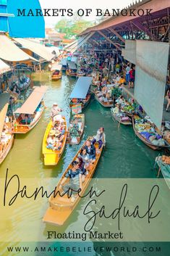
[[[12,123],[7,117],[9,97],[9,94],[0,94],[0,164],[7,157],[14,142]]]

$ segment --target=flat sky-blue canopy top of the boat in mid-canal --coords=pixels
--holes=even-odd
[[[72,90],[72,94],[69,98],[85,99],[92,80],[93,78],[89,76],[82,76],[81,78],[78,78],[75,88]]]

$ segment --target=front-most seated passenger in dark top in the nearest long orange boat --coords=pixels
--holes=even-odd
[[[68,178],[69,182],[64,184]],[[70,168],[65,174],[65,177],[60,183],[59,189],[62,189],[64,193],[69,191],[69,189],[72,189],[72,194],[77,194],[77,191],[82,189],[82,171],[80,170],[78,161],[72,162],[72,168]],[[75,197],[72,197],[71,200],[74,202]]]

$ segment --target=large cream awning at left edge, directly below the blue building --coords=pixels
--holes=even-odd
[[[37,59],[26,54],[4,35],[0,35],[0,58],[8,62],[21,62],[28,59],[37,61]]]

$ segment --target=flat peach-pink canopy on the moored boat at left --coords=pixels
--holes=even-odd
[[[43,96],[47,90],[46,86],[38,86],[36,87],[32,94],[27,98],[24,104],[22,104],[21,107],[17,108],[17,110],[14,111],[14,114],[31,114],[35,112],[36,108],[38,107],[38,104],[40,104],[41,99],[43,99]]]

